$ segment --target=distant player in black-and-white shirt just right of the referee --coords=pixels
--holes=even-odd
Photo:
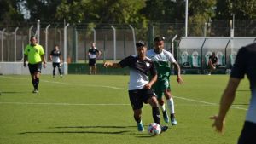
[[[58,67],[59,74],[62,78],[62,73],[61,73],[62,56],[61,56],[61,51],[60,51],[58,45],[55,45],[55,49],[53,49],[50,52],[49,59],[52,61],[52,66],[53,66],[52,76],[53,76],[53,78],[55,78],[55,68],[56,67]]]

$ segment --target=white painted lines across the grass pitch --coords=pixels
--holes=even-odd
[[[27,79],[27,78],[14,78],[14,77],[6,77],[6,76],[0,76],[0,78],[10,78],[10,79]],[[68,83],[61,83],[61,82],[54,82],[54,81],[48,81],[48,80],[41,80],[41,82],[45,83],[53,83],[53,84],[63,84],[63,85],[79,85],[79,86],[90,86],[90,87],[102,87],[102,88],[109,88],[109,89],[122,89],[122,90],[128,90],[125,88],[119,88],[119,87],[113,87],[113,86],[106,86],[106,85],[96,85],[96,84],[68,84]],[[217,103],[207,102],[207,101],[198,101],[194,99],[189,99],[181,96],[174,96],[177,99],[181,99],[184,101],[192,101],[196,103],[201,103],[207,106],[219,106]],[[90,106],[90,105],[99,105],[99,106],[124,106],[124,105],[130,105],[130,104],[71,104],[71,103],[30,103],[30,102],[0,102],[0,104],[25,104],[25,105],[62,105],[62,106]],[[231,106],[231,108],[234,109],[240,109],[247,111],[247,108],[243,107],[234,107]]]

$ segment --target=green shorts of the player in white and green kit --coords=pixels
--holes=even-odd
[[[155,95],[157,95],[157,99],[161,99],[163,93],[166,89],[171,89],[169,78],[160,78],[158,79],[152,89],[154,89]]]

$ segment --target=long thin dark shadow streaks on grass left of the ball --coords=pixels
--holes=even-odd
[[[58,126],[58,127],[49,127],[51,130],[58,130],[58,131],[26,131],[19,133],[20,135],[26,135],[26,134],[107,134],[107,135],[123,135],[130,133],[130,130],[124,130],[130,127],[135,126]],[[60,129],[108,129],[108,131],[100,130],[60,130]],[[111,129],[121,129],[121,130],[115,130],[115,131],[109,131]]]

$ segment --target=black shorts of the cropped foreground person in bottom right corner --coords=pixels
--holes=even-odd
[[[255,144],[256,143],[256,124],[245,122],[241,130],[238,144]]]

